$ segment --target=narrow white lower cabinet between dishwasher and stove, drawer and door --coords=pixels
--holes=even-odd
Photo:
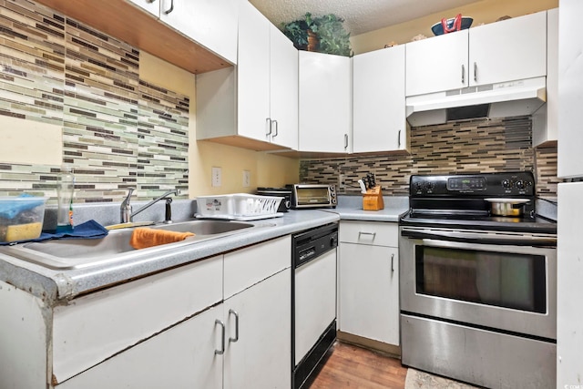
[[[341,221],[339,330],[399,345],[396,223]]]

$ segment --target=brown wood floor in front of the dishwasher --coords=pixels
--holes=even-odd
[[[310,389],[404,389],[407,368],[398,359],[336,342]]]

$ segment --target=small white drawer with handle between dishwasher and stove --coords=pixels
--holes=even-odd
[[[346,243],[398,247],[399,227],[397,223],[342,220],[339,237]]]

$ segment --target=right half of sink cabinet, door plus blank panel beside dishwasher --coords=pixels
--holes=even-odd
[[[225,254],[225,388],[290,386],[291,256],[290,236]]]

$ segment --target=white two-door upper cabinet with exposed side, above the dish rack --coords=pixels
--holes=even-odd
[[[197,138],[298,148],[298,50],[246,0],[237,67],[197,76]]]

